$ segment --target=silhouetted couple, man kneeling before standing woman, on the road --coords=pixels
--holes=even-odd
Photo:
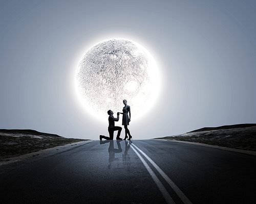
[[[124,125],[124,130],[125,130],[125,137],[124,137],[124,140],[126,140],[128,138],[127,135],[129,135],[129,140],[132,139],[132,136],[130,134],[130,131],[128,129],[128,125],[129,125],[129,122],[131,121],[131,108],[130,106],[127,105],[127,100],[123,100],[123,104],[124,104],[124,107],[123,107],[123,112],[122,113],[117,113],[117,118],[115,118],[113,116],[114,112],[112,110],[109,110],[108,111],[108,114],[109,114],[109,128],[108,128],[108,131],[109,131],[109,137],[106,137],[104,135],[100,135],[99,136],[99,139],[102,140],[102,139],[105,139],[105,140],[113,140],[114,139],[114,132],[115,131],[118,131],[117,132],[117,136],[116,136],[116,139],[117,140],[122,140],[122,138],[120,138],[120,135],[121,135],[121,131],[122,131],[122,127],[120,126],[115,126],[115,121],[119,121],[119,115],[122,114],[123,115],[123,118],[122,118],[122,125]],[[128,115],[129,114],[129,115]]]

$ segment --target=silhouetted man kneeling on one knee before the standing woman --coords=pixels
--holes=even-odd
[[[113,140],[113,138],[114,138],[114,131],[118,131],[116,139],[117,140],[122,140],[122,138],[120,138],[122,127],[115,126],[115,121],[119,120],[119,113],[117,113],[117,118],[114,118],[114,116],[113,116],[114,113],[113,113],[112,110],[109,110],[108,114],[109,114],[109,129],[108,129],[108,131],[109,131],[110,137],[106,137],[104,135],[100,135],[99,139],[102,140],[102,138],[103,138],[105,140]]]

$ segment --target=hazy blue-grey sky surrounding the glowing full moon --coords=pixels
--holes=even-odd
[[[75,75],[87,50],[110,38],[145,47],[160,73],[156,105],[139,119],[132,112],[133,139],[256,123],[255,11],[246,0],[2,0],[0,129],[108,135],[108,115],[84,109]]]

